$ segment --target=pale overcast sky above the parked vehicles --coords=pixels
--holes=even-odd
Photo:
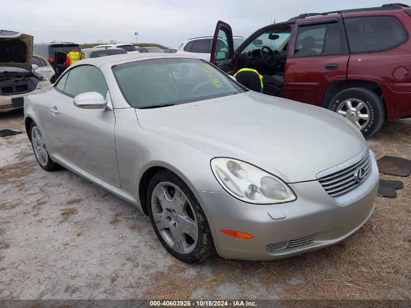
[[[196,36],[214,35],[218,20],[247,37],[258,28],[302,13],[381,6],[375,0],[12,0],[1,5],[0,29],[34,36],[35,43],[159,43],[179,47]],[[392,1],[393,2],[393,1]],[[409,3],[410,0],[400,2]]]

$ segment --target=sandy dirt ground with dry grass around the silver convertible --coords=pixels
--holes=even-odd
[[[186,265],[148,217],[74,173],[43,171],[22,111],[0,113],[0,299],[411,299],[411,179],[378,197],[370,220],[342,243],[272,262],[217,255]],[[411,159],[411,119],[369,140],[378,158]]]

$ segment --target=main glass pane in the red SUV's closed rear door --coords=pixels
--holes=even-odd
[[[295,44],[295,56],[321,55],[327,24],[299,27]]]

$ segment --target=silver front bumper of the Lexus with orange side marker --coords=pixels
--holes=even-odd
[[[248,204],[234,199],[224,189],[194,193],[203,205],[221,257],[263,261],[315,251],[352,235],[374,212],[378,180],[373,160],[370,176],[351,192],[357,193],[358,198],[345,205],[336,203],[318,181],[289,184],[298,199],[284,204]],[[285,217],[273,219],[269,211],[280,211],[274,213]],[[254,238],[227,236],[220,232],[223,229],[245,232]],[[276,251],[268,249],[270,244],[282,242],[303,244]]]

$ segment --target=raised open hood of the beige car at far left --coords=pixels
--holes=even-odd
[[[18,67],[31,71],[33,36],[0,30],[0,67]]]

